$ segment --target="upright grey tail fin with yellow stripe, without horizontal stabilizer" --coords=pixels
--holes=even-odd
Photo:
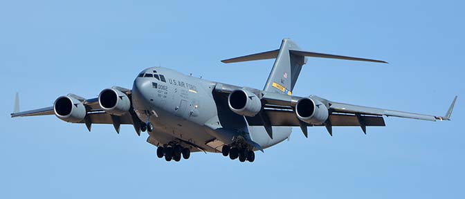
[[[299,77],[302,66],[307,62],[307,58],[302,55],[295,55],[289,50],[300,50],[299,46],[291,39],[282,39],[281,47],[275,64],[268,76],[264,91],[275,91],[292,95],[292,90]]]

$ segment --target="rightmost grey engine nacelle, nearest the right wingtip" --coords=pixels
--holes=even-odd
[[[307,124],[322,124],[329,117],[328,108],[317,99],[302,98],[295,104],[295,114]]]

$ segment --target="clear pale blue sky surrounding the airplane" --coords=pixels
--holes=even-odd
[[[0,198],[464,198],[463,1],[1,1]],[[132,126],[12,120],[75,93],[131,88],[165,66],[262,88],[273,61],[221,59],[278,48],[383,59],[309,59],[294,95],[443,115],[385,128],[299,129],[253,164],[221,154],[156,158]]]

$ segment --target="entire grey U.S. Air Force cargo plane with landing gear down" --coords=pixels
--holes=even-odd
[[[19,112],[19,99],[11,117],[56,115],[60,120],[85,124],[131,124],[136,133],[147,131],[147,142],[158,146],[156,155],[166,161],[190,158],[191,152],[222,153],[231,160],[253,162],[254,151],[263,151],[286,140],[292,126],[305,137],[309,126],[385,126],[383,116],[417,120],[450,120],[457,96],[444,116],[390,111],[333,102],[316,95],[298,97],[293,88],[307,57],[372,61],[374,59],[312,53],[290,39],[279,49],[222,60],[224,63],[275,59],[263,90],[234,86],[183,75],[169,68],[140,72],[132,89],[113,86],[96,98],[69,94],[57,97],[53,106]]]

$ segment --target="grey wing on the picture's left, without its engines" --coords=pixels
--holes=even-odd
[[[126,95],[129,97],[131,96],[131,90],[126,88],[118,88],[120,91],[124,91]],[[117,115],[110,115],[100,108],[98,104],[98,97],[91,98],[91,99],[84,99],[78,95],[69,94],[68,96],[78,99],[82,104],[84,104],[86,108],[86,117],[84,120],[79,122],[74,122],[78,124],[86,124],[86,127],[89,131],[91,131],[92,124],[113,124],[115,127],[116,132],[119,133],[120,131],[120,124],[133,124],[136,133],[140,135],[140,120],[136,117],[134,110],[129,110],[127,113],[121,116]],[[19,107],[18,99],[15,102],[15,107]],[[17,109],[17,108],[15,108]],[[18,111],[18,110],[15,110]],[[39,116],[39,115],[55,115],[53,110],[53,106],[49,106],[46,108],[39,108],[31,111],[21,111],[11,113],[11,117],[29,117],[29,116]],[[134,122],[135,121],[135,122]]]

